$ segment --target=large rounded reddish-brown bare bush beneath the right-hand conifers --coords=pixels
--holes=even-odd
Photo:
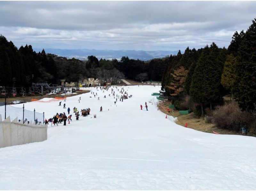
[[[248,129],[252,114],[241,111],[238,104],[232,101],[229,104],[218,106],[213,112],[213,120],[217,127],[239,132],[242,126]]]

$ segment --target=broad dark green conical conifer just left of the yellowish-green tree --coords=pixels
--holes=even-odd
[[[213,42],[210,48],[208,46],[204,48],[192,76],[190,96],[194,102],[201,104],[202,116],[204,104],[210,103],[212,109],[212,103],[222,98],[220,84],[222,59],[221,51]]]

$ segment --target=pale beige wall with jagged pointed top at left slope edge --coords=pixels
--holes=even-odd
[[[10,117],[2,121],[0,115],[0,148],[47,140],[47,125],[38,124],[11,122]]]

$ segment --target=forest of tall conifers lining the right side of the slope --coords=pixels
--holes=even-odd
[[[256,133],[256,19],[246,32],[235,32],[228,49],[212,42],[199,50],[187,48],[183,55],[180,51],[171,55],[162,89],[177,109],[213,118],[222,112],[227,116],[221,120],[228,122],[219,119],[220,126],[236,131],[246,126]],[[230,105],[221,107],[228,94]]]

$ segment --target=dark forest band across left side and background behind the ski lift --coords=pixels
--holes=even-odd
[[[131,80],[161,81],[168,59],[153,59],[141,61],[122,57],[106,60],[95,56],[88,56],[87,60],[76,58],[67,59],[53,54],[46,54],[44,50],[36,53],[31,45],[14,46],[12,41],[0,35],[0,85],[2,86],[31,86],[32,82],[47,82],[60,84],[60,79],[67,82],[79,81],[84,78],[99,78],[116,76]]]

